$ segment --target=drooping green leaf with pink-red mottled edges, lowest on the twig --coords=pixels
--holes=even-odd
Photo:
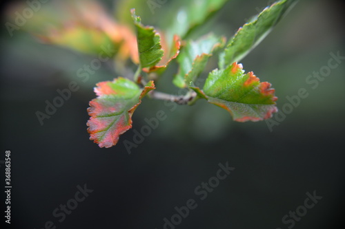
[[[119,135],[132,128],[132,114],[149,91],[155,89],[150,81],[144,89],[126,78],[97,83],[97,98],[90,102],[88,133],[99,147],[117,144]]]

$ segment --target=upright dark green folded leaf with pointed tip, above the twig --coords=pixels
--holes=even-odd
[[[164,50],[161,49],[161,37],[152,26],[141,24],[141,19],[135,15],[134,9],[132,9],[132,18],[137,28],[140,66],[141,68],[155,66],[164,54]]]

